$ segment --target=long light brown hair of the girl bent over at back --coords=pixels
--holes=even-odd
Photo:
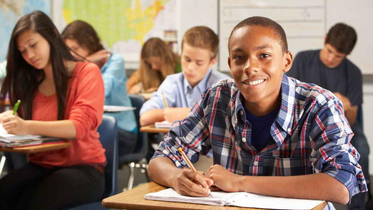
[[[146,62],[146,59],[150,57],[160,58],[160,71],[151,69],[151,66]],[[140,55],[140,82],[144,90],[159,87],[167,75],[175,73],[177,62],[177,55],[170,50],[170,47],[164,41],[160,38],[148,39],[142,46]]]

